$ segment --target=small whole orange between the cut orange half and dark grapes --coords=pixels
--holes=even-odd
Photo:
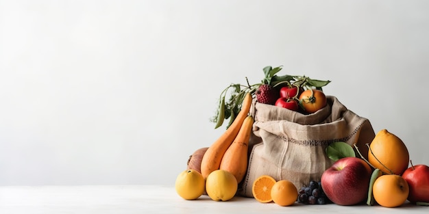
[[[271,198],[280,206],[291,206],[298,198],[298,190],[289,180],[279,180],[271,188]]]

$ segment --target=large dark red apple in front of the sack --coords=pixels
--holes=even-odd
[[[335,204],[358,204],[367,199],[371,173],[371,168],[363,159],[344,157],[323,172],[321,186]]]

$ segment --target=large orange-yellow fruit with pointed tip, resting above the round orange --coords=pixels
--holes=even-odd
[[[369,145],[368,161],[385,174],[402,174],[408,168],[410,155],[404,142],[382,129]],[[380,163],[381,162],[381,163]]]

